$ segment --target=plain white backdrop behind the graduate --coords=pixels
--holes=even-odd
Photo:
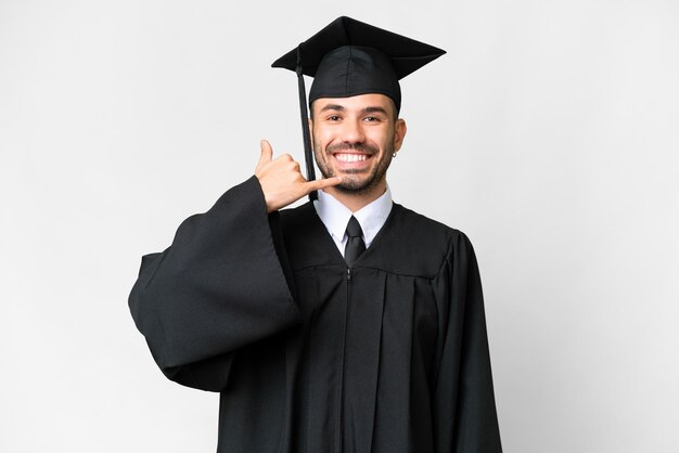
[[[389,183],[475,244],[505,452],[679,451],[674,0],[0,0],[0,451],[215,450],[127,296],[259,139],[302,158],[269,65],[340,15],[448,51]]]

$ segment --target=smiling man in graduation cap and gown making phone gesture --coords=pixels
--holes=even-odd
[[[254,177],[143,258],[132,315],[167,377],[221,393],[219,452],[501,451],[472,246],[386,183],[398,79],[440,54],[330,24],[274,63],[316,76],[324,179],[262,141]]]

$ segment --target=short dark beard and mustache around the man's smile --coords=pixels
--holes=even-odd
[[[377,158],[376,156],[380,155],[380,151],[376,147],[371,146],[366,143],[338,143],[335,145],[328,146],[324,151],[322,151],[322,153],[324,153],[324,156],[330,160],[333,158],[332,155],[334,153],[337,153],[341,151],[360,151],[371,156],[371,158]],[[385,178],[386,170],[387,168],[389,168],[389,164],[392,164],[393,153],[394,153],[394,148],[389,144],[388,147],[385,150],[384,155],[382,156],[382,160],[379,161],[377,165],[374,166],[370,170],[370,174],[368,174],[367,177],[362,179],[361,178],[355,179],[355,178],[351,178],[351,174],[357,174],[360,177],[360,174],[363,173],[363,171],[348,169],[344,171],[344,174],[346,174],[347,177],[344,177],[342,180],[342,183],[335,185],[334,187],[338,190],[340,192],[358,194],[358,195],[369,192],[370,190],[374,189],[375,185],[377,185]],[[325,160],[321,161],[321,159],[318,158],[318,153],[316,153],[315,155],[316,155],[316,164],[318,165],[318,168],[321,170],[323,178],[328,179],[328,178],[335,177],[336,176],[335,172],[330,168],[330,166],[325,165]]]

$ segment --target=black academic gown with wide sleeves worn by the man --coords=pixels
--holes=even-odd
[[[218,452],[500,452],[466,236],[394,205],[348,270],[311,204],[256,178],[145,256],[130,309],[163,373],[221,392]]]

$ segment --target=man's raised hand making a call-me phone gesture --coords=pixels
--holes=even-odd
[[[342,177],[307,181],[299,171],[299,163],[290,154],[273,158],[273,150],[268,141],[262,140],[261,156],[255,169],[264,197],[267,212],[273,212],[295,203],[313,191],[320,191],[342,182]]]

